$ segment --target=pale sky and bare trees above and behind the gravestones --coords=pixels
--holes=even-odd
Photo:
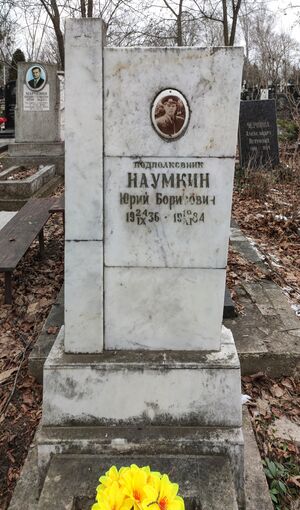
[[[15,68],[13,57],[20,47],[26,60],[55,62],[63,69],[64,19],[86,16],[104,19],[107,43],[113,46],[243,45],[247,57],[244,79],[250,92],[260,86],[267,89],[268,81],[282,82],[280,87],[285,87],[291,79],[297,82],[298,76],[299,83],[299,5],[295,2],[262,1],[258,6],[253,0],[226,1],[224,13],[216,1],[192,0],[169,0],[169,7],[164,0],[154,5],[150,0],[87,0],[80,4],[74,0],[66,2],[63,11],[57,9],[56,1],[49,0],[21,0],[18,5],[26,17],[20,16],[15,2],[3,0],[0,86],[3,74],[5,82],[15,79],[10,69]],[[232,5],[237,6],[234,13]],[[49,17],[45,18],[45,11]]]

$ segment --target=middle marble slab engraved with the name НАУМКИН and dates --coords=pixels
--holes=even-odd
[[[107,266],[226,266],[232,159],[107,157],[104,167]]]

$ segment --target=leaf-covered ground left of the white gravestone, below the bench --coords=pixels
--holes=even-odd
[[[45,258],[35,241],[13,273],[13,305],[3,304],[0,275],[1,510],[8,507],[42,414],[42,388],[28,374],[28,356],[63,283],[61,215],[53,215],[44,230]]]

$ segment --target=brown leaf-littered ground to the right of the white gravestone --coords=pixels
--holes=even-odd
[[[236,172],[232,216],[269,271],[263,273],[230,247],[227,284],[235,299],[240,281],[270,278],[284,290],[300,325],[300,155],[281,160],[273,171]],[[239,303],[237,308],[243,313]],[[299,442],[277,437],[274,425],[300,426],[300,381],[275,381],[258,373],[242,383],[251,397],[248,407],[274,508],[299,510]]]

